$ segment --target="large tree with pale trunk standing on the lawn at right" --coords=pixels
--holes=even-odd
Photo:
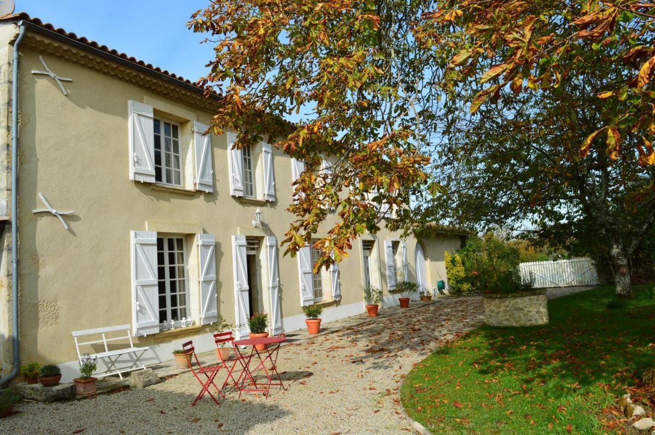
[[[628,296],[629,258],[655,220],[654,11],[643,1],[441,2],[421,26],[451,61],[447,146],[436,150],[451,193],[424,213],[444,217],[447,203],[459,220],[529,220],[555,239],[591,225],[616,294]]]

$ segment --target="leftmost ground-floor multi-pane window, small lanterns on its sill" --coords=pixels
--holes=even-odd
[[[189,298],[184,237],[157,236],[157,280],[159,322],[170,324],[186,318],[189,315]]]

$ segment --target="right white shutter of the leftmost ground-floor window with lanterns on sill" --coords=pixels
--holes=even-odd
[[[198,266],[200,267],[200,324],[213,323],[218,318],[216,294],[216,237],[198,234]]]

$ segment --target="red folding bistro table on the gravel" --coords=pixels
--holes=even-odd
[[[238,385],[239,388],[239,397],[241,396],[241,393],[246,391],[246,392],[263,392],[265,393],[265,397],[269,398],[269,392],[271,391],[271,386],[279,385],[282,387],[284,391],[286,391],[286,388],[284,387],[284,384],[282,383],[282,379],[280,378],[280,374],[278,374],[278,368],[276,367],[276,361],[278,360],[278,351],[280,350],[280,344],[286,341],[285,336],[279,336],[279,337],[264,337],[264,338],[246,338],[242,340],[235,340],[233,341],[234,345],[234,351],[238,354],[238,360],[241,363],[241,366],[243,367],[243,371],[239,375],[239,379],[237,383],[240,382]],[[258,351],[255,349],[256,344],[265,344],[266,346],[266,352],[264,351]],[[269,349],[269,345],[277,344],[277,346],[273,347],[272,350]],[[239,349],[239,346],[241,345],[246,345],[246,346],[251,346],[250,350],[250,355],[248,357],[244,357],[241,355],[241,350]],[[255,367],[254,370],[250,370],[250,360],[252,360],[253,355],[257,355],[257,358],[259,358],[259,364],[257,364],[257,367]],[[271,362],[271,368],[270,370],[266,369],[266,360],[269,360]],[[245,362],[244,362],[245,361]],[[255,382],[255,379],[253,375],[257,373],[258,371],[263,370],[264,374],[266,375],[267,382]],[[274,377],[277,377],[277,380],[279,382],[274,382]],[[246,379],[248,379],[248,385],[246,384]],[[248,388],[252,386],[252,388]]]

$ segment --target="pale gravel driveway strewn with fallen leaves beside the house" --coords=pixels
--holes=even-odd
[[[549,290],[550,297],[556,293]],[[281,347],[278,370],[288,388],[273,387],[268,400],[253,393],[239,399],[238,392],[229,390],[221,406],[203,398],[192,408],[200,384],[185,373],[153,387],[94,400],[18,404],[19,413],[0,420],[0,432],[413,432],[400,409],[398,391],[404,375],[430,351],[482,321],[481,298],[441,298]]]

